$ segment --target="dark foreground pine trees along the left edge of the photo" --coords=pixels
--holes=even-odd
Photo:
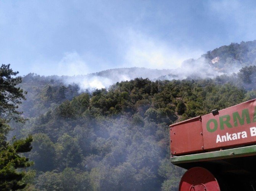
[[[16,169],[29,167],[32,162],[28,158],[19,156],[19,153],[31,151],[32,136],[16,140],[13,144],[6,140],[6,135],[10,131],[8,122],[25,121],[19,114],[18,104],[25,100],[22,89],[16,87],[21,83],[21,77],[15,77],[18,72],[10,69],[10,64],[0,67],[0,190],[22,189],[26,184],[21,183],[25,172],[17,172]]]

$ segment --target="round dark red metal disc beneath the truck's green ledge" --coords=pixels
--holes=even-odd
[[[214,175],[202,167],[194,167],[185,172],[180,181],[179,191],[220,191]]]

